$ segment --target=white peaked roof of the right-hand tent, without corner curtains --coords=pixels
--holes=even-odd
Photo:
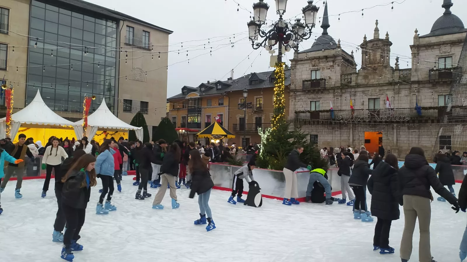
[[[83,119],[75,122],[75,124],[82,125]],[[102,100],[99,108],[88,116],[88,125],[97,126],[98,128],[108,128],[108,129],[128,129],[128,130],[140,130],[142,127],[133,126],[121,121],[116,117],[107,107],[106,101]]]

